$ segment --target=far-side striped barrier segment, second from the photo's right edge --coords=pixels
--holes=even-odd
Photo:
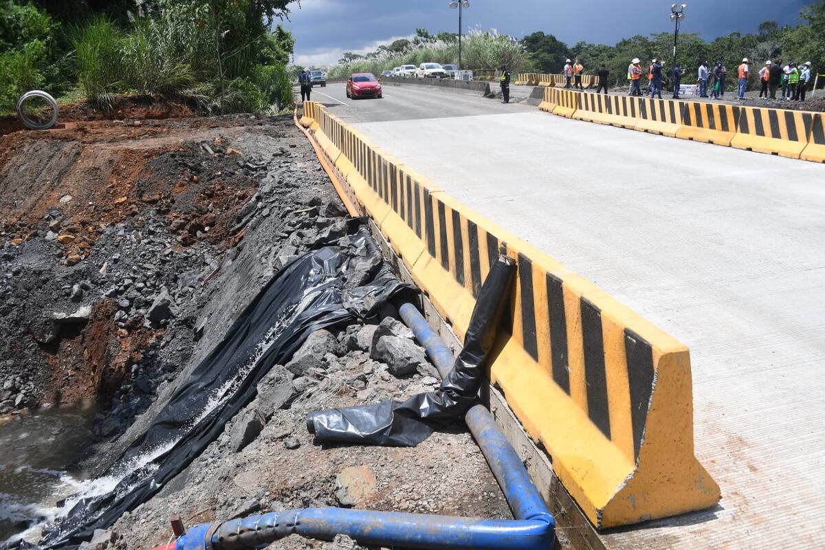
[[[731,147],[799,158],[808,146],[813,115],[802,110],[743,107]]]

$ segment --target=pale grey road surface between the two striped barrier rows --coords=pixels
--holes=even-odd
[[[825,165],[478,96],[314,92],[478,210],[691,348],[714,510],[608,548],[825,548]]]

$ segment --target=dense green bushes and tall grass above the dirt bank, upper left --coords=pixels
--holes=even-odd
[[[38,88],[101,106],[137,94],[209,112],[283,110],[295,40],[271,24],[290,2],[0,0],[0,111]]]

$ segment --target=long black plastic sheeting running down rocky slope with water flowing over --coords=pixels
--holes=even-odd
[[[152,498],[223,433],[224,425],[256,397],[257,383],[271,367],[285,364],[312,332],[350,324],[356,317],[370,319],[389,299],[414,295],[413,287],[399,281],[384,262],[365,220],[350,220],[347,235],[338,242],[342,246],[320,243],[323,247],[300,256],[266,284],[144,435],[104,475],[118,475],[157,456],[131,471],[113,491],[78,502],[40,541],[40,548],[76,548],[95,529],[109,528],[124,512]],[[365,265],[372,266],[374,275],[352,284],[356,276],[365,278],[360,267]]]

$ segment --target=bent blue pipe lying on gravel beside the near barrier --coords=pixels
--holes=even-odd
[[[442,377],[449,373],[455,356],[427,320],[411,303],[404,303],[398,311],[427,349]],[[493,416],[483,406],[475,405],[467,411],[464,420],[487,458],[516,519],[306,508],[253,515],[224,524],[196,525],[177,539],[175,550],[259,548],[290,534],[322,540],[346,534],[359,543],[408,548],[552,548],[555,519]]]

